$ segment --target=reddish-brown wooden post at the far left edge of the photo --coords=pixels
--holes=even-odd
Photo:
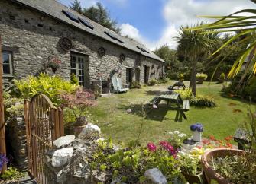
[[[0,153],[6,154],[5,145],[5,113],[4,113],[4,98],[3,98],[3,87],[2,78],[3,68],[2,68],[2,41],[0,35]],[[6,164],[2,167],[2,172],[6,170]]]

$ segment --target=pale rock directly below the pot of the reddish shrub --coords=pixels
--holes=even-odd
[[[101,134],[101,130],[99,126],[93,125],[92,123],[88,123],[85,128],[83,128],[82,132],[79,134],[80,139],[99,137]]]

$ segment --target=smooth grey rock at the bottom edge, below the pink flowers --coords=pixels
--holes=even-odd
[[[151,182],[154,182],[157,184],[167,184],[166,177],[157,168],[146,170],[146,172],[144,173],[144,176]]]

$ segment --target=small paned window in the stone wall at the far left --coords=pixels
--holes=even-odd
[[[2,63],[3,63],[3,75],[13,76],[13,61],[12,61],[12,52],[2,52]]]

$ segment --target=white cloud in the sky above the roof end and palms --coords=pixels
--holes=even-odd
[[[141,41],[149,49],[155,49],[164,44],[171,48],[177,47],[173,36],[181,25],[194,25],[199,21],[210,21],[199,18],[199,15],[228,15],[243,8],[254,8],[255,4],[249,0],[165,0],[163,18],[166,22],[159,40],[145,38],[139,30],[131,24],[122,24],[121,33],[123,36],[130,36]]]

